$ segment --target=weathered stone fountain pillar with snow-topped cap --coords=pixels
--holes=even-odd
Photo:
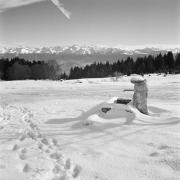
[[[147,96],[148,88],[143,77],[133,77],[131,83],[134,84],[133,106],[141,113],[148,114]]]

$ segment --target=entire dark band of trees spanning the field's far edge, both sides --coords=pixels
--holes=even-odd
[[[0,79],[79,79],[118,76],[119,74],[180,73],[180,53],[172,52],[157,56],[127,57],[114,63],[95,62],[85,67],[72,67],[70,73],[62,73],[60,65],[52,61],[28,61],[19,57],[0,59]]]

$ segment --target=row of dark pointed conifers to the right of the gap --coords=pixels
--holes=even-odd
[[[135,61],[128,57],[125,60],[112,64],[93,63],[85,67],[73,67],[69,79],[95,78],[117,76],[119,74],[146,74],[146,73],[180,73],[180,53],[173,56],[172,52],[157,56],[139,57]]]

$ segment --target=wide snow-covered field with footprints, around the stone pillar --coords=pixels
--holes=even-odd
[[[0,180],[179,180],[180,75],[145,76],[148,116],[130,78],[0,81]]]

